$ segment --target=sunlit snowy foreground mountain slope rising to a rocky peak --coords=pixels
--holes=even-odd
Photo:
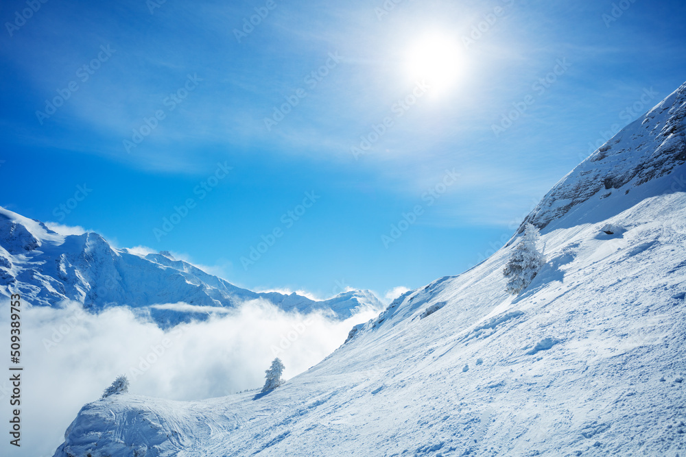
[[[686,84],[595,151],[515,243],[405,293],[267,395],[87,404],[56,457],[685,456]]]

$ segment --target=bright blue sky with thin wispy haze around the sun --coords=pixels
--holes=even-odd
[[[0,205],[383,295],[483,260],[686,79],[682,1],[340,3],[3,1]]]

